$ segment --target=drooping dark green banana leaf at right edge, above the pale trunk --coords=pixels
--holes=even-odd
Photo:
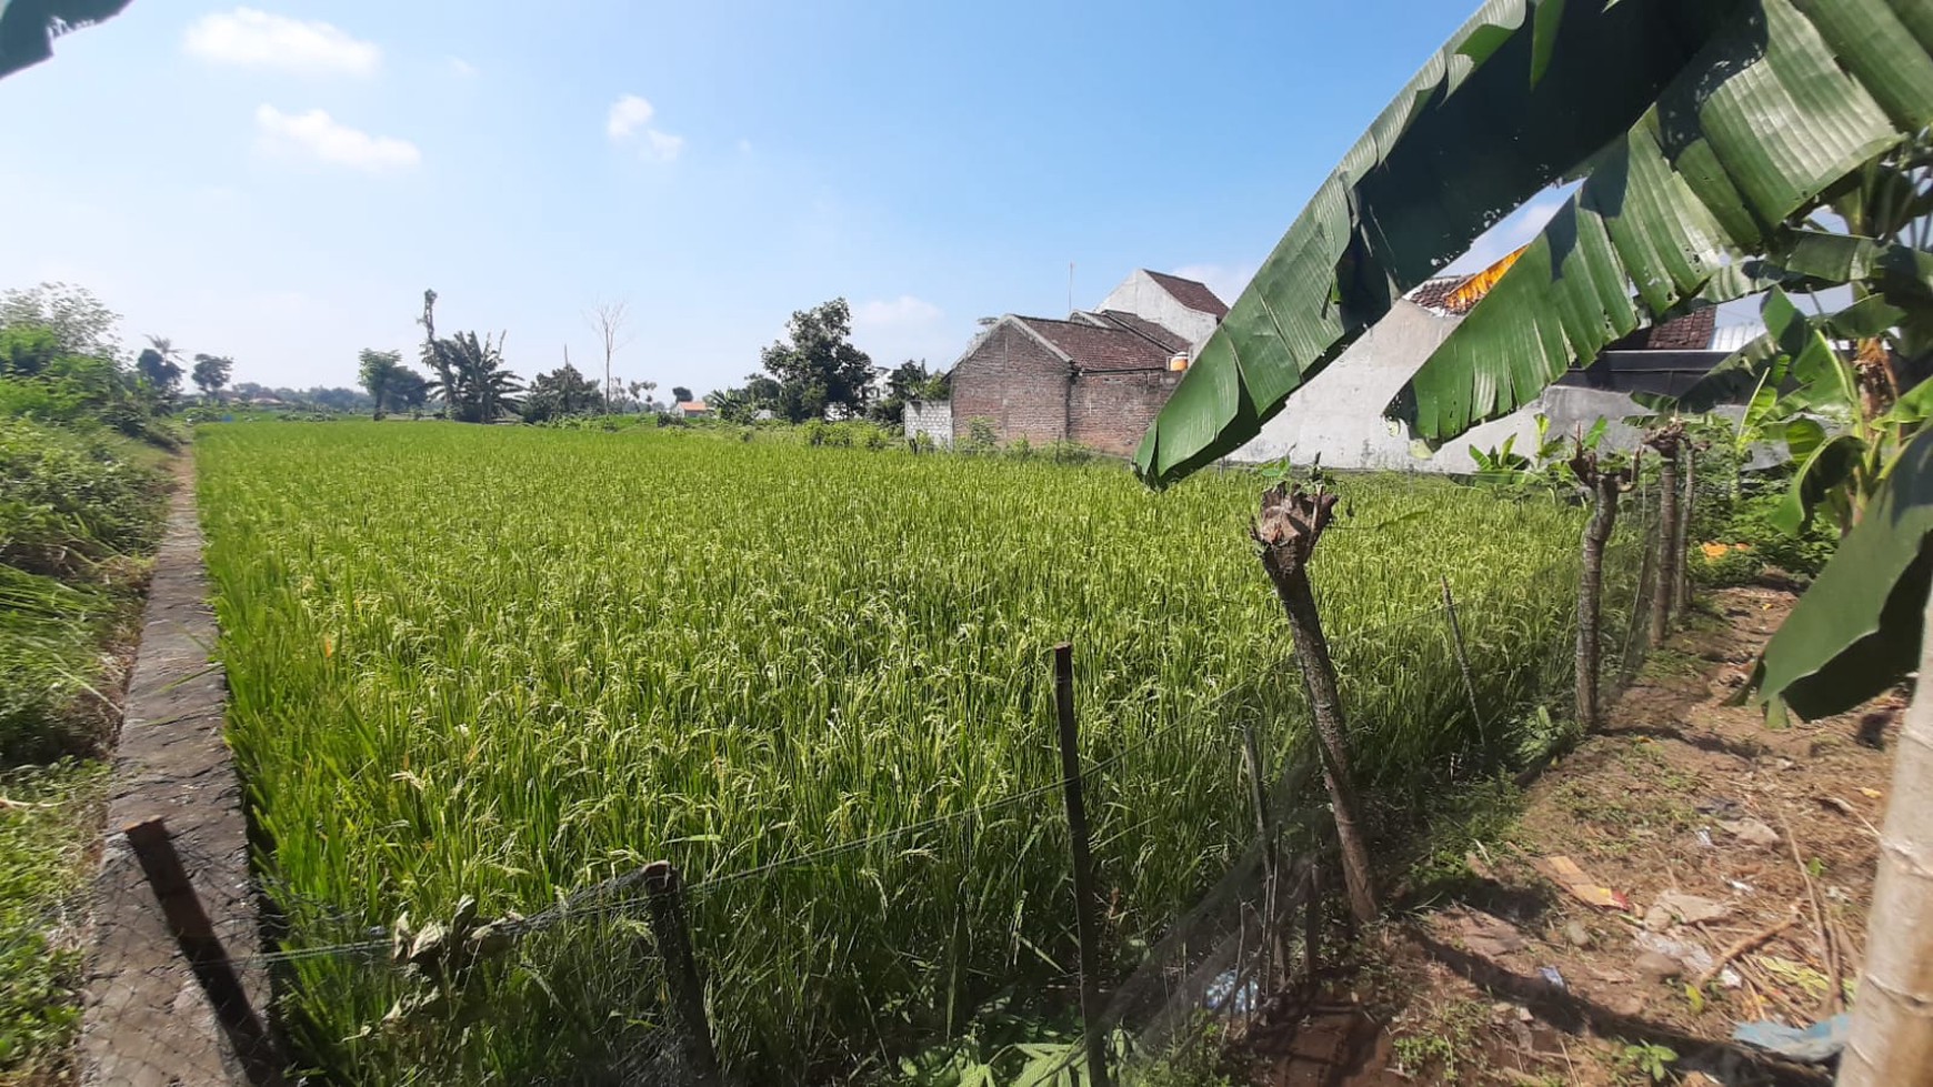
[[[1914,438],[1885,488],[1765,647],[1751,689],[1776,716],[1848,711],[1919,662],[1933,583],[1933,431]]]

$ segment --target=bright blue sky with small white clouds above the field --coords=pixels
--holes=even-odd
[[[423,288],[526,376],[591,369],[597,299],[663,390],[736,384],[835,295],[876,363],[947,365],[978,317],[1063,313],[1069,263],[1077,305],[1137,266],[1231,297],[1467,15],[133,0],[0,83],[0,286],[83,284],[263,384],[414,355]]]

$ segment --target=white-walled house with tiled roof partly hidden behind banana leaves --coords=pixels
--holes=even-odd
[[[1258,463],[1289,456],[1301,463],[1320,454],[1324,467],[1467,473],[1475,469],[1471,446],[1490,450],[1517,434],[1517,452],[1533,448],[1537,415],[1548,417],[1556,434],[1608,419],[1606,446],[1633,448],[1639,432],[1622,419],[1647,411],[1631,400],[1633,392],[1682,394],[1726,357],[1724,349],[1713,349],[1717,311],[1701,309],[1610,344],[1589,367],[1573,367],[1504,419],[1475,427],[1438,450],[1421,448],[1384,419],[1382,409],[1488,286],[1475,276],[1442,276],[1417,286],[1229,460]]]

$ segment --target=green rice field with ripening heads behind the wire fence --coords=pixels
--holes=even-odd
[[[284,946],[464,898],[532,915],[667,857],[700,888],[746,1081],[891,1068],[1065,983],[1059,797],[947,819],[1057,780],[1053,643],[1123,963],[1253,832],[1233,726],[1274,759],[1301,739],[1253,473],[1152,494],[1117,465],[441,423],[211,427],[195,456]],[[1515,755],[1541,697],[1568,705],[1581,519],[1442,481],[1342,488],[1313,571],[1359,778],[1401,809]],[[332,1081],[597,1081],[657,1037],[642,944],[553,929],[429,1025],[392,1014],[381,963],[300,958],[282,1014]]]

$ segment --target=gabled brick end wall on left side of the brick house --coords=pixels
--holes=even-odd
[[[1067,438],[1067,363],[1013,324],[995,324],[953,367],[953,436],[966,438],[974,419],[994,425],[1001,442]]]

